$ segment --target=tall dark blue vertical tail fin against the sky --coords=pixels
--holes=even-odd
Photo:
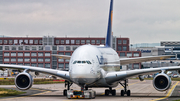
[[[108,29],[107,29],[107,36],[106,36],[106,47],[111,47],[112,18],[113,18],[113,0],[111,0],[111,3],[110,3],[109,21],[108,21]]]

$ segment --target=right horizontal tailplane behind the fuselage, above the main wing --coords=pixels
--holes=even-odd
[[[140,63],[153,60],[163,60],[174,57],[174,55],[160,55],[160,56],[146,56],[146,57],[137,57],[137,58],[122,58],[120,59],[121,65],[131,64],[131,63]]]

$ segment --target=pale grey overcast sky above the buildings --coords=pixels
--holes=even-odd
[[[105,37],[110,0],[0,0],[0,35]],[[130,43],[180,41],[180,0],[114,0],[113,33]]]

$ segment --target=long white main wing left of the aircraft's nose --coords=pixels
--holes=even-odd
[[[28,70],[28,71],[33,71],[33,72],[51,74],[51,75],[55,75],[55,76],[61,77],[63,79],[66,79],[68,81],[71,81],[68,71],[60,71],[60,70],[54,70],[54,69],[47,69],[47,68],[41,68],[41,67],[31,67],[31,66],[22,66],[22,65],[0,64],[0,70],[3,70],[5,68],[18,69],[18,70]]]

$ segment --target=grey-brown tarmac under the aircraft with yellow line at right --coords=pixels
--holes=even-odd
[[[1,88],[17,89],[14,85],[0,85]],[[76,84],[71,89],[80,90]],[[172,86],[168,91],[159,92],[154,89],[152,80],[129,80],[128,89],[131,90],[131,96],[120,96],[123,89],[121,85],[116,89],[116,96],[105,96],[104,91],[107,88],[92,88],[96,91],[95,99],[67,99],[63,96],[64,83],[62,84],[41,84],[33,85],[31,89],[25,91],[25,94],[0,98],[0,101],[172,101],[180,99],[180,82],[172,82]]]

